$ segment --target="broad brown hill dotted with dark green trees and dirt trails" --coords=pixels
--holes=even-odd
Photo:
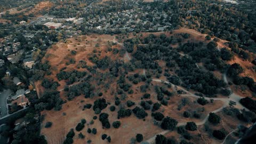
[[[223,95],[224,93],[221,89],[225,88],[226,91],[229,90],[229,86],[225,84],[227,81],[225,76],[219,76],[221,75],[221,71],[225,70],[222,70],[217,64],[218,68],[210,72],[209,67],[207,67],[209,64],[206,62],[209,61],[207,60],[209,59],[209,57],[207,58],[208,55],[204,56],[203,54],[201,59],[196,60],[198,57],[197,49],[201,51],[202,49],[215,49],[215,53],[221,53],[222,46],[225,47],[223,49],[230,49],[228,47],[228,41],[219,39],[215,45],[210,45],[214,43],[211,41],[215,37],[212,37],[211,40],[206,40],[206,36],[195,30],[182,28],[163,33],[128,34],[125,38],[122,35],[84,35],[70,38],[65,42],[59,42],[53,45],[51,49],[47,50],[42,60],[42,63],[48,63],[51,66],[49,69],[51,71],[50,75],[46,75],[44,78],[48,79],[47,81],[49,82],[47,85],[50,84],[50,86],[47,87],[50,88],[45,89],[41,86],[38,89],[54,91],[54,88],[51,88],[51,84],[58,82],[59,86],[56,91],[60,91],[59,95],[64,103],[59,111],[42,111],[41,115],[44,116],[44,121],[42,123],[41,134],[45,135],[49,143],[62,143],[70,129],[75,130],[76,125],[81,119],[85,118],[87,122],[84,129],[79,132],[75,130],[74,143],[84,143],[84,141],[88,140],[91,140],[92,143],[102,143],[102,134],[109,135],[111,137],[111,143],[129,143],[132,138],[135,138],[135,134],[137,133],[141,133],[144,137],[143,140],[148,142],[153,142],[155,140],[154,135],[160,133],[166,137],[172,135],[171,138],[174,138],[173,136],[177,135],[177,133],[162,130],[160,123],[154,120],[154,117],[151,117],[152,113],[159,111],[165,117],[169,116],[176,119],[178,122],[177,126],[186,125],[190,121],[195,122],[198,125],[198,132],[201,133],[201,137],[196,136],[197,132],[189,132],[192,138],[190,141],[195,143],[198,140],[204,141],[205,143],[220,142],[219,140],[213,139],[209,132],[223,128],[228,133],[238,123],[241,123],[238,118],[234,121],[232,116],[227,116],[226,111],[232,109],[229,108],[229,100],[236,102],[237,105],[235,105],[235,108],[244,108],[239,104],[239,99],[247,95],[236,93],[235,88],[232,86],[231,91],[233,91],[233,94],[229,97]],[[158,37],[164,42],[159,42],[161,39],[157,39]],[[152,41],[150,38],[156,40]],[[214,39],[214,41],[216,40]],[[190,46],[194,45],[195,48],[189,49],[189,45],[185,47],[188,43],[190,43]],[[145,52],[143,49],[146,49],[148,45],[151,48],[147,50],[147,54],[153,54],[150,57],[148,55],[143,56],[143,52]],[[161,49],[164,49],[164,51]],[[194,49],[196,53],[193,53],[191,49]],[[155,52],[151,53],[150,51]],[[138,55],[138,52],[140,55]],[[163,55],[162,58],[157,57],[157,54]],[[170,57],[174,61],[169,59]],[[212,58],[210,57],[210,59]],[[188,60],[189,63],[180,63],[181,61],[185,62],[184,60]],[[242,61],[242,58],[234,54],[231,60],[223,62],[230,64],[234,62],[239,63],[245,69],[239,75],[245,76],[246,71],[250,70],[247,65],[251,64],[250,62]],[[243,63],[247,64],[243,65]],[[181,72],[179,70],[184,68],[182,65],[186,65],[186,67],[194,69],[197,73],[202,73],[205,76],[206,74],[209,75],[212,77],[211,81],[218,81],[220,84],[214,87],[219,86],[219,90],[211,91],[212,82],[207,81],[207,77],[204,80],[205,84],[210,86],[207,87],[209,89],[208,91],[202,91],[196,87],[193,88],[193,86],[189,90],[184,83],[187,81],[185,80],[186,78],[180,75]],[[74,70],[78,71],[75,72],[76,75],[74,74]],[[73,74],[67,74],[69,71],[73,71]],[[252,74],[255,74],[255,71],[252,71]],[[183,75],[187,74],[183,72]],[[225,73],[222,73],[222,75],[225,75]],[[231,79],[231,77],[228,77],[229,82],[232,81]],[[202,83],[202,80],[200,81]],[[44,87],[46,86],[44,84],[42,85]],[[157,91],[156,87],[160,88],[160,92]],[[202,93],[198,94],[198,90]],[[41,92],[40,97],[44,95],[44,91]],[[249,88],[247,92],[251,93]],[[145,93],[149,93],[149,98],[143,96]],[[201,97],[198,95],[205,95],[205,99],[208,101],[206,105],[202,106],[197,102],[198,98]],[[108,120],[110,125],[114,121],[120,121],[121,126],[118,129],[115,129],[112,125],[110,129],[105,126],[102,127],[101,122],[98,120],[100,115],[96,112],[97,110],[86,108],[87,104],[91,104],[94,107],[95,101],[101,99],[106,100],[107,106],[102,108],[100,113],[109,115]],[[128,107],[126,104],[127,101],[132,101],[134,104]],[[146,104],[141,104],[141,102],[145,103],[145,101]],[[150,106],[150,103],[162,103],[162,106],[155,111]],[[56,104],[53,103],[54,109],[60,107],[57,106],[59,104],[59,102]],[[110,111],[110,107],[113,106],[115,107],[115,111]],[[134,109],[137,106],[142,107],[141,114],[135,113],[131,116],[124,115],[124,117],[118,118],[118,113],[119,116],[121,115],[120,110]],[[119,112],[117,113],[117,111]],[[184,118],[184,111],[188,111],[191,116]],[[213,126],[207,121],[207,117],[211,112],[221,116],[222,122],[218,127]],[[143,115],[143,113],[147,113],[147,116]],[[195,114],[199,115],[199,117],[195,116]],[[98,118],[93,120],[93,116],[97,116]],[[233,122],[230,122],[230,119]],[[46,122],[52,122],[52,127],[44,128],[43,125]],[[210,131],[205,132],[203,130],[205,129],[205,124],[210,126]],[[241,124],[246,125],[246,123]],[[89,128],[97,129],[97,134],[87,133],[86,131]],[[85,135],[85,139],[78,138],[80,132]],[[119,139],[119,137],[116,137],[116,133],[122,135],[123,138]],[[178,135],[175,136],[175,139],[179,141]]]

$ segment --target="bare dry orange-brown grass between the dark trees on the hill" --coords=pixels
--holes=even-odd
[[[190,38],[186,41],[204,41],[205,36],[204,34],[200,34],[195,30],[191,29],[178,29],[170,32],[163,32],[163,33],[153,33],[155,35],[161,35],[165,34],[166,36],[176,35],[180,33],[188,33],[190,34]],[[143,37],[148,36],[152,33],[142,33]],[[137,35],[138,36],[138,35]],[[136,37],[133,35],[129,35],[129,37]],[[114,43],[117,43],[115,45]],[[218,46],[222,47],[224,46],[226,41],[220,41],[218,43]],[[112,52],[108,51],[108,48],[111,47],[111,49],[118,49],[121,50],[123,47],[122,41],[117,42],[116,35],[110,36],[110,35],[86,35],[86,36],[78,36],[74,38],[69,38],[65,42],[59,42],[56,45],[53,45],[50,49],[47,50],[47,53],[45,54],[45,57],[43,58],[43,62],[49,61],[51,65],[51,75],[45,76],[45,78],[51,78],[54,81],[58,81],[56,75],[59,73],[59,71],[62,68],[66,68],[67,71],[70,70],[78,70],[78,71],[86,71],[87,73],[90,73],[87,69],[78,68],[77,62],[80,60],[86,61],[87,66],[94,66],[94,63],[91,61],[91,56],[93,54],[97,54],[99,59],[104,58],[105,56],[109,57],[111,60],[122,60],[125,63],[129,63],[132,59],[132,54],[125,53],[123,55],[116,54],[114,55]],[[227,48],[228,49],[228,48]],[[70,54],[71,51],[76,51],[77,54],[72,55]],[[184,54],[185,55],[185,54]],[[184,57],[183,55],[183,57]],[[69,59],[74,59],[76,61],[76,64],[70,64],[67,65],[67,62]],[[237,58],[239,59],[239,58]],[[165,62],[159,60],[158,61],[159,66],[162,68],[165,68]],[[242,61],[241,61],[241,64]],[[248,64],[246,64],[247,66]],[[199,67],[203,67],[202,63],[198,63]],[[174,69],[175,70],[175,69]],[[173,70],[173,71],[174,71]],[[175,73],[171,71],[170,73],[175,75]],[[97,74],[94,74],[94,80],[99,79],[100,74],[107,73],[108,70],[102,70],[97,69]],[[145,70],[145,69],[134,69],[133,71],[127,72],[127,75],[134,75],[134,74],[140,74],[140,75],[147,75],[152,74],[152,70]],[[245,72],[246,73],[246,72]],[[214,74],[217,75],[220,79],[223,79],[223,74],[221,74],[219,71],[214,71]],[[126,75],[126,76],[127,76]],[[119,108],[124,106],[116,106],[116,111],[111,112],[109,110],[110,105],[115,105],[115,95],[113,94],[118,90],[118,84],[116,83],[118,81],[119,76],[113,79],[107,79],[105,82],[109,83],[110,89],[105,89],[102,85],[99,85],[97,81],[93,80],[92,83],[95,87],[95,91],[101,91],[103,93],[103,97],[105,98],[107,102],[109,102],[106,109],[103,109],[102,112],[109,114],[109,121],[110,124],[114,121],[117,121],[117,113],[116,111],[119,110]],[[227,79],[223,79],[227,81]],[[132,100],[136,103],[136,105],[139,105],[139,102],[141,101],[141,97],[143,95],[142,92],[140,92],[140,86],[143,85],[144,82],[139,82],[138,84],[132,84],[127,77],[125,77],[125,81],[129,84],[131,84],[131,89],[134,91],[133,94],[127,94],[127,98],[123,101]],[[166,86],[167,82],[165,84],[161,81],[166,81],[165,76],[161,75],[158,79],[153,79],[153,81],[150,82],[149,88],[147,93],[151,94],[151,99],[153,102],[157,102],[156,92],[154,91],[155,85],[160,86]],[[41,82],[36,83],[36,90],[41,91],[42,93],[42,86],[40,85]],[[77,84],[80,83],[80,81],[74,83]],[[61,91],[60,97],[63,100],[67,100],[67,92],[63,91],[64,87],[66,86],[65,81],[59,82],[60,86],[58,87],[58,90]],[[201,137],[196,137],[196,132],[191,132],[191,135],[195,135],[192,141],[204,141],[205,143],[219,143],[218,140],[212,140],[212,135],[208,132],[205,132],[203,130],[203,125],[207,122],[207,117],[209,116],[209,113],[218,113],[221,114],[222,108],[228,106],[229,100],[234,100],[235,102],[238,102],[239,98],[241,98],[240,95],[232,94],[230,98],[227,97],[218,97],[213,98],[212,103],[208,103],[205,106],[199,105],[196,100],[198,98],[197,95],[195,95],[195,91],[187,91],[181,86],[175,86],[171,84],[172,87],[168,88],[167,90],[170,92],[176,92],[178,90],[183,90],[186,92],[186,94],[174,94],[172,97],[170,97],[170,100],[168,101],[167,106],[161,106],[159,111],[161,111],[164,116],[170,116],[174,119],[177,119],[179,124],[178,125],[185,125],[187,122],[195,122],[199,126],[199,129],[197,132],[201,133]],[[231,90],[233,90],[233,87],[231,87]],[[239,93],[238,93],[239,94]],[[42,115],[44,115],[44,121],[42,123],[42,131],[41,134],[45,135],[47,142],[51,143],[62,143],[65,140],[66,134],[69,132],[70,129],[74,129],[76,125],[81,121],[82,118],[85,118],[87,123],[85,125],[85,128],[81,131],[85,135],[85,139],[78,139],[78,133],[75,131],[76,135],[73,138],[74,143],[84,143],[87,140],[92,140],[92,143],[107,143],[107,141],[101,140],[102,134],[108,134],[111,137],[111,143],[129,143],[131,138],[134,138],[137,133],[141,133],[144,135],[144,140],[150,140],[154,139],[154,135],[163,133],[167,137],[178,137],[176,132],[170,132],[170,131],[163,131],[159,126],[154,124],[154,119],[151,117],[151,111],[147,111],[148,116],[145,118],[145,121],[142,119],[138,119],[133,114],[130,117],[121,118],[118,121],[121,121],[121,127],[118,129],[115,129],[113,126],[111,126],[110,129],[102,129],[102,125],[99,122],[98,118],[94,120],[93,124],[89,124],[92,121],[92,117],[95,116],[94,111],[92,109],[84,109],[83,106],[86,103],[91,103],[95,100],[97,100],[98,97],[93,97],[90,99],[85,99],[83,95],[74,98],[71,101],[67,101],[62,105],[62,109],[60,111],[42,111]],[[178,105],[181,103],[182,99],[187,99],[188,104],[183,106],[180,110],[178,110]],[[207,100],[210,100],[210,98],[207,98]],[[136,106],[135,105],[135,106]],[[132,106],[131,109],[133,109],[135,106]],[[237,108],[243,108],[241,105],[237,105]],[[193,111],[199,111],[201,114],[201,118],[184,118],[183,117],[183,111],[190,111],[190,113],[193,113]],[[239,124],[239,121],[235,121],[233,123],[229,123],[231,120],[227,120],[225,116],[223,116],[224,120],[218,127],[226,127],[228,132],[233,131],[234,125]],[[53,125],[50,128],[45,128],[44,125],[46,122],[52,122]],[[89,134],[87,133],[88,128],[96,128],[97,134]],[[212,127],[213,129],[213,127]],[[215,129],[215,127],[214,127]],[[154,131],[152,131],[154,130]],[[118,133],[118,135],[116,134]],[[175,133],[175,134],[174,134]],[[120,135],[122,135],[122,139],[120,139]]]

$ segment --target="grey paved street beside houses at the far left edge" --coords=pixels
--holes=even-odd
[[[0,117],[4,117],[8,114],[6,99],[9,97],[9,95],[11,95],[11,93],[12,91],[10,89],[4,90],[2,93],[0,93]]]

